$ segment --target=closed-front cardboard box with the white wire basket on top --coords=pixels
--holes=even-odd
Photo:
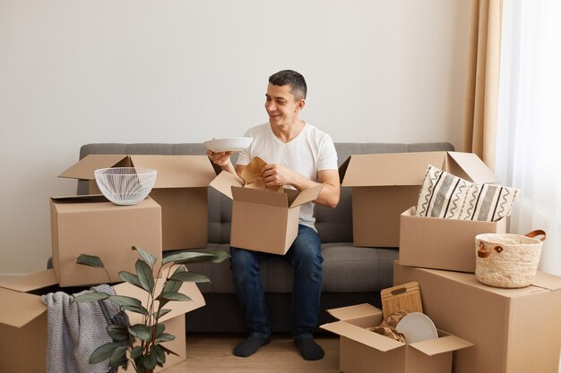
[[[150,197],[117,206],[105,197],[51,198],[53,268],[60,286],[108,283],[104,270],[76,264],[80,254],[98,256],[111,281],[119,271],[134,272],[138,246],[161,259],[161,209]]]

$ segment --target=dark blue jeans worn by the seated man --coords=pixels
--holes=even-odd
[[[319,301],[324,282],[324,258],[319,234],[306,225],[298,225],[298,236],[283,255],[230,247],[230,269],[237,298],[246,316],[252,335],[271,335],[269,311],[261,282],[263,260],[271,257],[286,259],[294,267],[292,290],[292,337],[311,337],[317,326]]]

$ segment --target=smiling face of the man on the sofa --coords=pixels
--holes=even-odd
[[[305,101],[297,101],[290,93],[289,85],[275,86],[269,83],[265,97],[265,110],[272,125],[290,125],[299,121],[298,114]]]

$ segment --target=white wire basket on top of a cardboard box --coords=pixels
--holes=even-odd
[[[113,167],[95,170],[99,191],[116,205],[136,205],[148,196],[156,170],[143,167]]]

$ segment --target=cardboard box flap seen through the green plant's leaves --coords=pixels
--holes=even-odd
[[[164,286],[165,279],[168,278],[168,276],[169,276],[169,267],[162,270],[161,278],[154,279],[154,282],[156,283],[156,290],[155,290],[156,294],[160,294],[161,289]],[[133,284],[128,284],[128,283],[117,284],[114,286],[114,289],[118,295],[125,295],[141,300],[142,305],[146,307],[147,293],[144,290],[134,286]],[[166,315],[162,316],[160,318],[161,321],[166,321],[169,318],[175,318],[176,316],[183,315],[194,309],[199,309],[206,304],[203,298],[203,294],[199,290],[198,286],[194,283],[188,283],[188,282],[183,283],[181,285],[181,288],[179,289],[179,292],[191,298],[191,301],[168,302],[166,304],[166,309],[171,309],[171,311],[168,312]],[[158,301],[156,301],[154,304],[156,309],[158,308],[158,304],[159,304]],[[131,325],[142,323],[142,315],[129,311],[127,311],[126,313],[130,319]]]

